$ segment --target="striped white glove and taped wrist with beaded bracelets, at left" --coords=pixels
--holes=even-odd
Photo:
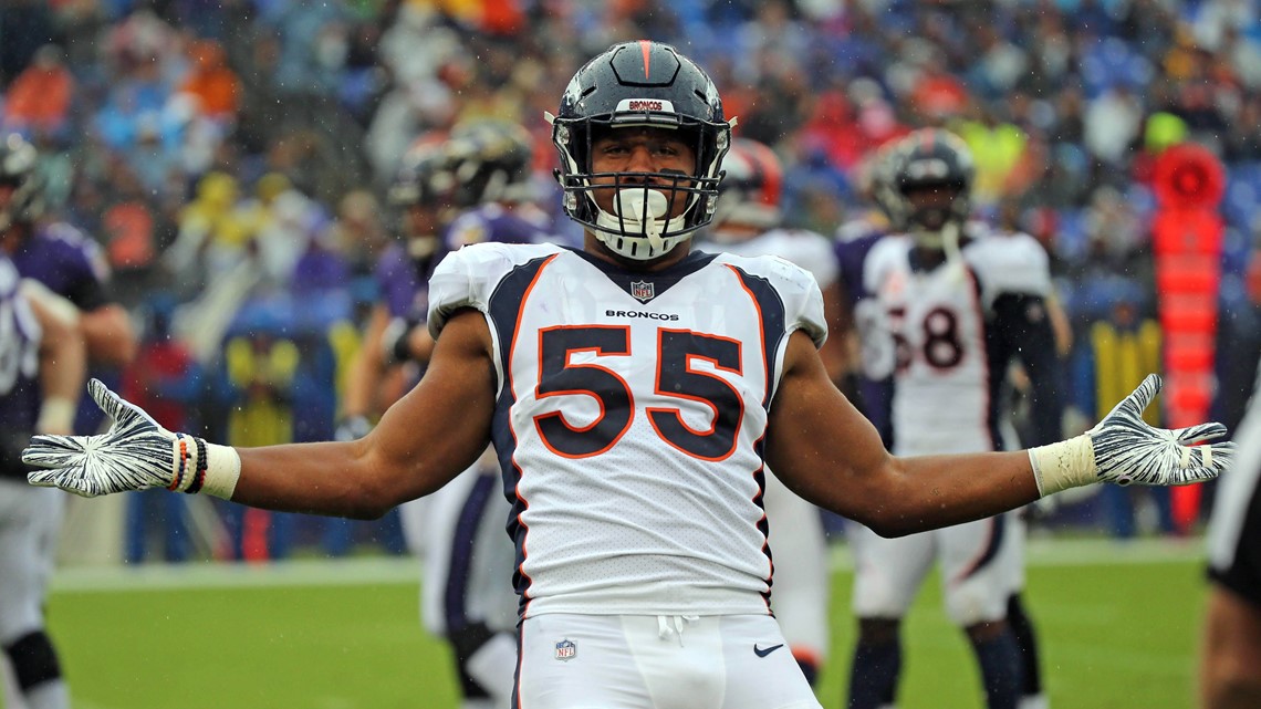
[[[100,380],[88,382],[97,406],[110,416],[100,435],[37,435],[21,452],[30,484],[59,487],[82,497],[165,487],[230,498],[241,471],[236,450],[171,433]]]

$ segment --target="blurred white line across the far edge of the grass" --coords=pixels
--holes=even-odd
[[[1204,559],[1203,539],[1031,539],[1029,566],[1184,564]],[[834,570],[852,568],[845,542],[831,545]],[[53,593],[251,588],[286,585],[419,584],[420,563],[410,556],[303,559],[271,564],[188,563],[139,566],[72,566],[53,574]]]

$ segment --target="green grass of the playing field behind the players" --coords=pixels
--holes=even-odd
[[[1028,606],[1052,706],[1194,705],[1199,549],[1031,545]],[[842,706],[854,637],[844,546],[836,561],[826,709]],[[416,578],[400,559],[63,570],[49,619],[78,709],[454,708],[446,650],[419,627]],[[972,657],[936,584],[908,619],[899,705],[980,708]]]

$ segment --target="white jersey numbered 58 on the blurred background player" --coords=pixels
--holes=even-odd
[[[908,236],[871,247],[863,280],[873,298],[856,318],[865,372],[894,377],[894,452],[995,450],[987,313],[1004,293],[1049,294],[1047,254],[1028,235],[985,236],[963,246],[962,262],[921,271],[913,249]]]

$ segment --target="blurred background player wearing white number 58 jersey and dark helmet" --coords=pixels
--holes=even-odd
[[[919,130],[876,165],[874,197],[900,233],[868,245],[854,307],[864,375],[892,385],[893,450],[904,455],[1005,448],[1000,402],[1019,361],[1033,386],[1038,440],[1059,438],[1063,401],[1042,246],[968,222],[972,159],[953,134]],[[881,402],[868,402],[879,407]],[[972,645],[990,709],[1045,706],[1024,583],[1018,512],[883,539],[855,525],[859,638],[850,709],[892,705],[902,666],[900,621],[934,559],[947,612]],[[1028,681],[1028,685],[1026,685]]]

